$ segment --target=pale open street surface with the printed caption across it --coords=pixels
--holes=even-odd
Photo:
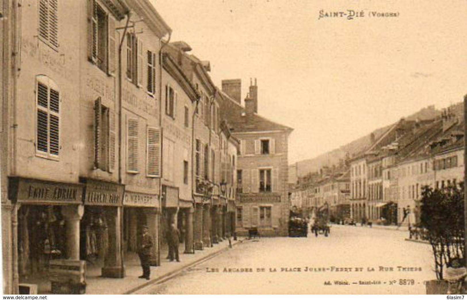
[[[424,294],[435,276],[430,246],[407,234],[334,225],[327,238],[247,240],[140,293]]]

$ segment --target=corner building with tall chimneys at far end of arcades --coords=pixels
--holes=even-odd
[[[290,211],[288,137],[293,129],[258,114],[258,86],[250,80],[245,106],[241,81],[222,81],[221,113],[240,141],[237,163],[237,233],[287,236]]]

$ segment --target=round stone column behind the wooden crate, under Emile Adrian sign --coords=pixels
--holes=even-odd
[[[66,256],[79,260],[79,221],[85,212],[83,205],[62,206],[66,227]]]

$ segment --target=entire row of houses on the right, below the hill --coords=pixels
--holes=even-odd
[[[381,225],[415,225],[425,186],[459,186],[464,180],[464,106],[434,118],[401,119],[370,146],[340,165],[299,177],[291,205],[311,216],[327,205],[336,222],[353,218]]]

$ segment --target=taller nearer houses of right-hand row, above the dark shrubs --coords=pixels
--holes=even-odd
[[[464,180],[464,106],[434,120],[401,119],[350,164],[351,211],[357,220],[416,224],[424,186]]]

